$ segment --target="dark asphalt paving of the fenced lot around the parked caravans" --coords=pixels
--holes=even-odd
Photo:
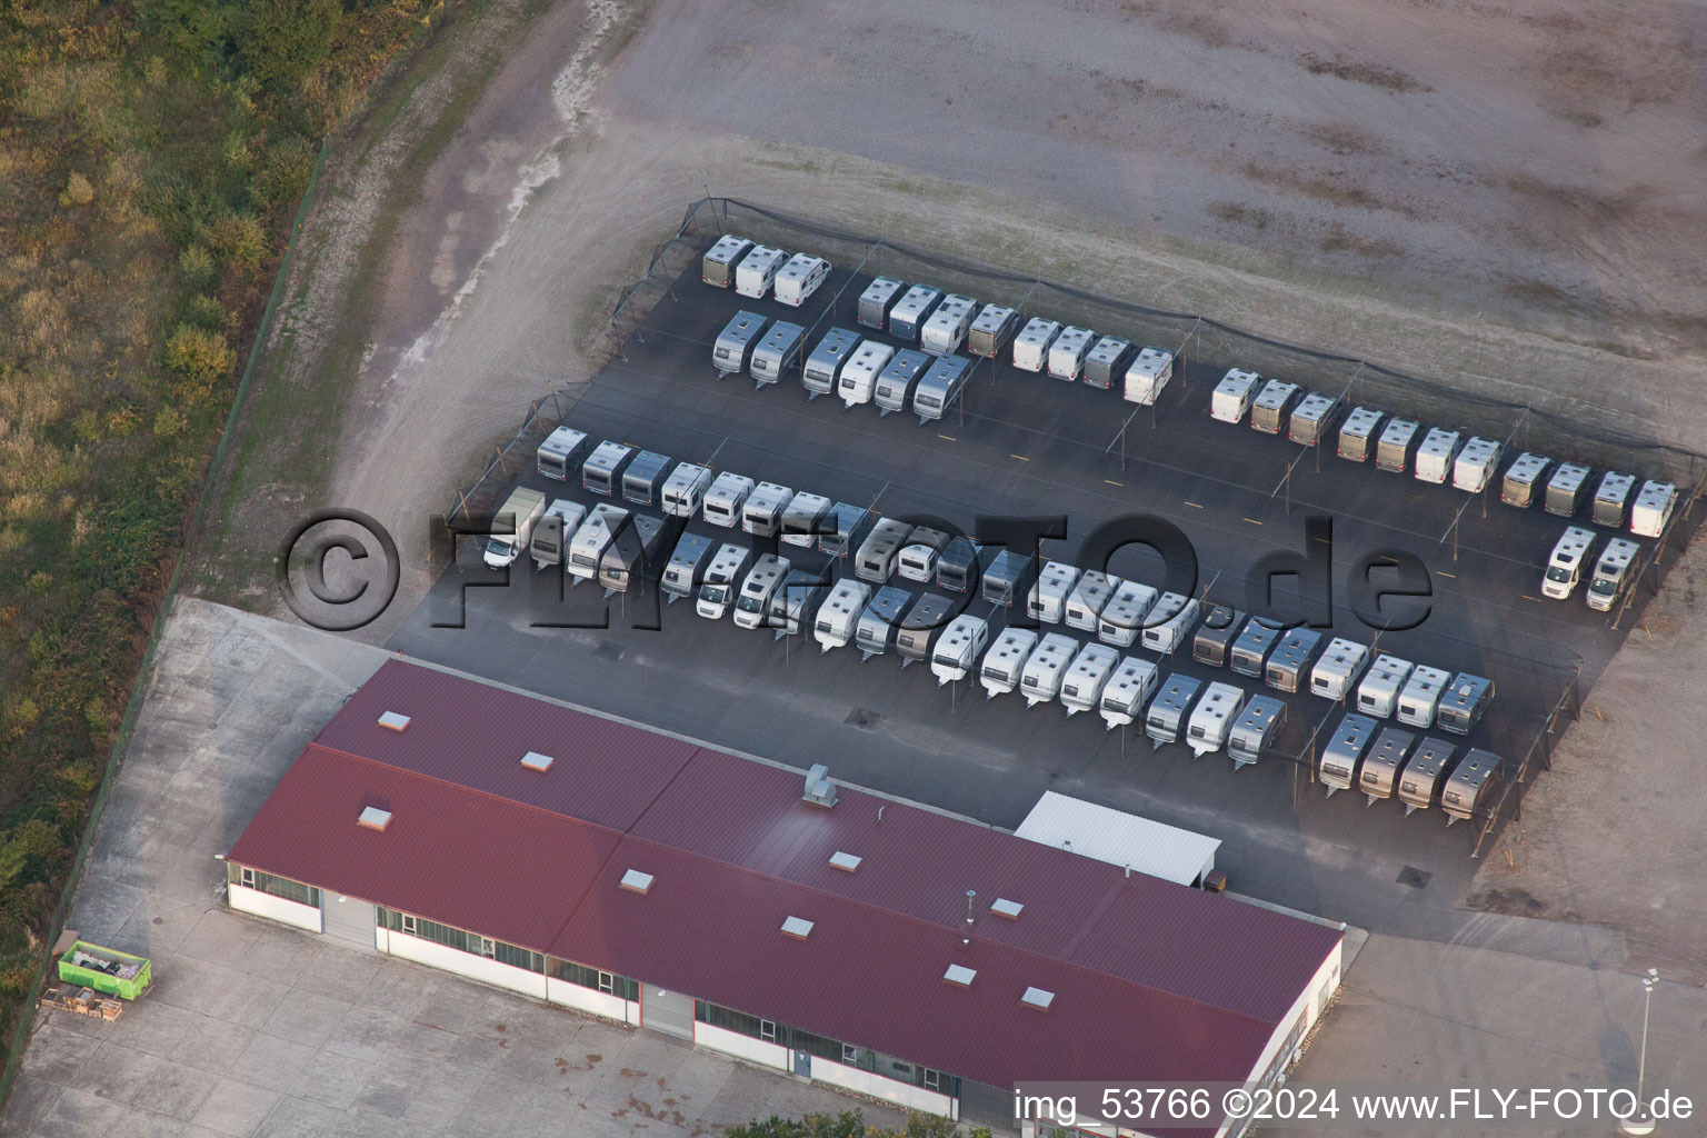
[[[1302,553],[1304,519],[1330,514],[1331,631],[1492,677],[1497,696],[1468,742],[1506,759],[1529,746],[1577,669],[1586,691],[1622,640],[1581,592],[1570,602],[1536,599],[1564,519],[1331,452],[1320,456],[1318,469],[1316,454],[1284,438],[1212,421],[1219,367],[1207,362],[1174,379],[1154,416],[1132,416],[1123,459],[1120,428],[1133,404],[1118,392],[1016,370],[1005,353],[980,362],[959,406],[929,425],[910,413],[845,409],[835,396],[809,401],[797,380],[754,389],[743,375],[715,377],[712,341],[737,309],[806,324],[814,345],[831,324],[859,328],[862,287],[862,276],[840,268],[802,309],[789,309],[705,287],[695,263],[563,421],[594,438],[963,531],[978,515],[1065,515],[1065,541],[1043,544],[1046,556],[1065,560],[1081,560],[1081,543],[1106,520],[1154,515],[1190,539],[1198,595],[1207,589],[1209,599],[1234,604],[1255,558]],[[1106,331],[1147,341],[1144,328]],[[1306,375],[1292,379],[1309,386]],[[575,485],[531,471],[521,481],[548,496],[591,500]],[[691,527],[744,539],[702,520]],[[1350,611],[1345,582],[1357,556],[1378,549],[1417,554],[1434,582],[1427,619],[1379,638]],[[628,626],[635,613],[652,611],[630,597],[611,601],[608,630],[551,628],[601,623],[599,590],[570,590],[565,609],[541,601],[556,580],[536,584],[531,563],[519,563],[509,589],[466,589],[497,578],[478,558],[464,556],[463,566],[387,647],[717,746],[797,766],[826,761],[836,776],[993,824],[1017,824],[1046,788],[1079,793],[1221,836],[1236,889],[1383,932],[1439,932],[1446,918],[1436,906],[1456,903],[1475,868],[1466,856],[1475,826],[1448,827],[1439,810],[1401,817],[1395,802],[1366,807],[1355,793],[1326,800],[1308,768],[1284,759],[1234,773],[1224,754],[1193,761],[1183,746],[1152,751],[1140,735],[1104,732],[1094,715],[1063,722],[1060,705],[985,701],[976,684],[937,688],[927,667],[901,669],[893,655],[819,655],[809,640],[773,643],[763,631],[714,626],[688,604],[666,606],[661,631]],[[1116,554],[1111,568],[1152,582],[1161,573],[1135,549]],[[970,611],[987,606],[973,602]],[[1268,691],[1178,655],[1162,671]],[[1331,727],[1338,710],[1313,696],[1287,703],[1280,749],[1308,754],[1311,729]]]

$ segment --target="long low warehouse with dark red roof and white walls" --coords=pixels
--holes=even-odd
[[[398,660],[227,862],[232,908],[1005,1129],[1019,1082],[1279,1078],[1340,979],[1337,928]]]

